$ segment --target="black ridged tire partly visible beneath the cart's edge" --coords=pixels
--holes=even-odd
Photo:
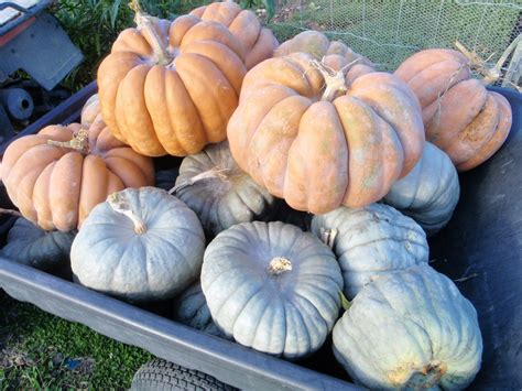
[[[204,372],[154,359],[143,365],[132,379],[131,391],[237,390]]]

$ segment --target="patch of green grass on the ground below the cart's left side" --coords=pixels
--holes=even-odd
[[[0,390],[128,389],[153,358],[0,292]],[[72,369],[72,365],[77,366]]]

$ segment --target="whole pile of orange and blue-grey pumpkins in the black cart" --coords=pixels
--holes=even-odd
[[[426,233],[452,217],[457,170],[504,142],[508,101],[456,51],[389,74],[318,32],[279,45],[233,2],[172,22],[133,3],[81,122],[3,155],[24,218],[2,253],[41,269],[70,253],[85,286],[174,297],[180,322],[287,359],[333,330],[370,388],[467,387],[477,314]],[[186,158],[154,170],[167,154]]]

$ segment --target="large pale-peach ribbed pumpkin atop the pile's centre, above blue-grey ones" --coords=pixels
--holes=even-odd
[[[247,74],[227,132],[243,171],[315,214],[379,200],[424,145],[418,101],[399,78],[376,72],[346,85],[344,70],[305,53]]]

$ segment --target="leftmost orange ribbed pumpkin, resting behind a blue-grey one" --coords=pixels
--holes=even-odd
[[[13,141],[2,178],[22,216],[45,230],[76,229],[108,194],[152,185],[152,160],[116,140],[102,121],[48,126]]]

